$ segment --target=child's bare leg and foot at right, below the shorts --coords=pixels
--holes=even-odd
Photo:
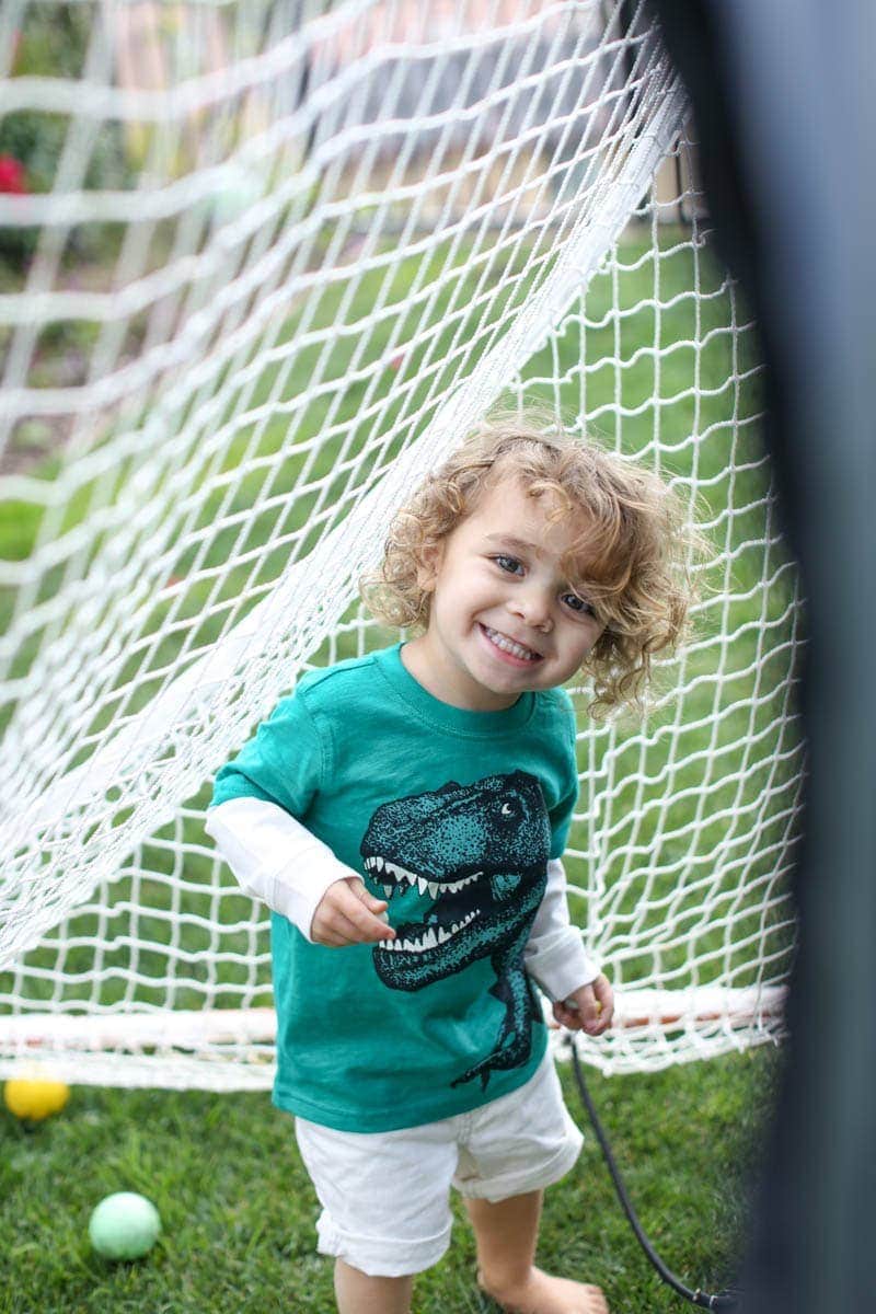
[[[466,1198],[478,1246],[478,1282],[511,1314],[608,1314],[599,1286],[552,1277],[535,1265],[544,1192]]]

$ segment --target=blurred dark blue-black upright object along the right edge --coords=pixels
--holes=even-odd
[[[873,1307],[876,200],[871,0],[653,0],[768,367],[766,440],[806,595],[806,837],[791,1043],[745,1314]]]

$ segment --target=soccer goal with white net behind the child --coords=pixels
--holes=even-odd
[[[268,920],[209,782],[393,637],[357,581],[496,402],[651,464],[711,543],[649,715],[577,695],[571,908],[620,1020],[582,1056],[777,1038],[796,574],[644,8],[20,0],[0,58],[0,1075],[271,1083]]]

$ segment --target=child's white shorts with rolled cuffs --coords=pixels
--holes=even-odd
[[[550,1051],[511,1095],[420,1127],[336,1131],[296,1118],[298,1148],[322,1214],[318,1250],[372,1277],[422,1273],[450,1243],[450,1185],[506,1200],[558,1181],[583,1137]]]

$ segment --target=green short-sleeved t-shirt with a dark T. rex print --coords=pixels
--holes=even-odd
[[[314,945],[272,916],[274,1104],[347,1131],[465,1113],[532,1076],[546,1030],[523,951],[578,796],[567,694],[450,707],[401,646],[306,675],[213,796],[278,804],[390,896],[397,938],[377,946]]]

